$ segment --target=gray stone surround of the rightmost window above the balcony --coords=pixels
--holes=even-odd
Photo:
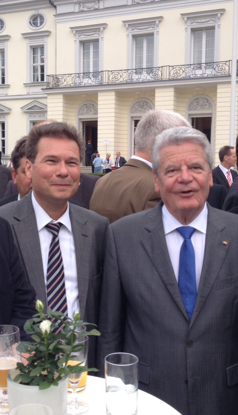
[[[206,10],[202,12],[181,13],[185,21],[186,46],[185,64],[193,64],[193,32],[195,29],[215,29],[214,36],[214,62],[220,59],[220,19],[225,9]],[[205,62],[201,62],[205,63]]]

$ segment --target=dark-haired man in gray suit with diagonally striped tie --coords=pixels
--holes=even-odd
[[[25,172],[32,181],[33,191],[20,201],[2,206],[0,216],[11,224],[26,275],[35,288],[36,298],[45,305],[52,302],[50,289],[53,289],[49,281],[53,238],[48,225],[59,224],[62,268],[55,287],[62,286],[59,293],[62,304],[55,300],[59,306],[56,311],[64,304],[64,311],[69,316],[80,310],[82,318],[97,324],[102,247],[108,221],[68,203],[78,189],[83,149],[82,137],[65,123],[39,125],[32,129],[26,144]],[[90,365],[95,364],[94,354],[93,344]]]

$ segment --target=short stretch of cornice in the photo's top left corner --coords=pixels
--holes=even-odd
[[[51,7],[48,0],[0,0],[0,14]]]

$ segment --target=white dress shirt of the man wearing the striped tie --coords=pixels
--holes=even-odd
[[[60,249],[64,264],[65,272],[65,288],[66,298],[68,305],[68,315],[72,317],[75,311],[79,311],[79,298],[78,298],[78,283],[77,283],[77,266],[75,256],[74,239],[70,221],[70,208],[57,220],[51,219],[48,213],[38,204],[34,197],[34,192],[31,194],[32,205],[36,215],[37,229],[39,232],[41,255],[44,270],[45,284],[47,286],[47,265],[49,246],[52,239],[52,233],[48,231],[45,226],[51,222],[60,222],[62,226],[59,231]],[[36,275],[37,278],[37,275]],[[46,289],[47,291],[47,289]]]

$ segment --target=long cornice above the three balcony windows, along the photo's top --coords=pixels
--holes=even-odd
[[[57,6],[57,0],[54,1]],[[60,1],[61,3],[63,2]],[[70,4],[69,0],[65,0],[65,3]],[[72,0],[71,0],[72,3]],[[96,10],[81,11],[81,12],[69,12],[55,15],[55,21],[57,24],[70,23],[70,22],[86,22],[87,20],[103,19],[116,16],[128,16],[136,15],[147,12],[162,12],[171,9],[183,9],[188,7],[203,7],[208,5],[215,5],[224,3],[233,3],[232,0],[155,0],[152,2],[131,4],[123,6],[111,6],[99,8]]]

